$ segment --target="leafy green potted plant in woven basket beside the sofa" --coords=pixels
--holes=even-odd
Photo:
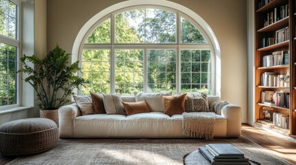
[[[59,122],[59,107],[69,103],[68,96],[83,83],[83,79],[75,75],[81,69],[79,61],[68,66],[71,54],[65,52],[57,45],[43,59],[25,54],[21,57],[23,68],[17,72],[28,74],[24,80],[30,83],[37,93],[40,117],[50,118],[56,123]],[[33,63],[34,67],[28,66],[28,62]]]

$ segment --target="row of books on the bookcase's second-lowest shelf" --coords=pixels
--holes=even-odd
[[[284,91],[262,91],[261,102],[277,107],[290,107],[290,93]]]

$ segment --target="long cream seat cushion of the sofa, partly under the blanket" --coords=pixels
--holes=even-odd
[[[162,112],[134,115],[81,115],[73,120],[73,137],[84,138],[179,138],[186,137],[182,130],[182,115]],[[216,115],[215,137],[227,136],[227,120]]]

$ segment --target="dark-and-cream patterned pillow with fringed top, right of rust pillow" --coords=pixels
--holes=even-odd
[[[186,112],[210,111],[208,107],[208,95],[205,93],[188,93],[185,102]]]

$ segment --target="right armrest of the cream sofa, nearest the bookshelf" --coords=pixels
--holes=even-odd
[[[241,135],[241,107],[227,104],[221,109],[221,115],[227,119],[227,136],[238,137]]]

